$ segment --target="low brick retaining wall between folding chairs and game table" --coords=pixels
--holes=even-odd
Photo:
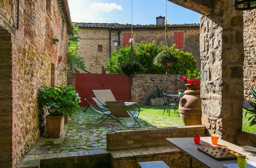
[[[106,149],[122,150],[141,147],[170,145],[165,138],[206,136],[205,126],[180,126],[143,130],[115,131],[106,135]]]

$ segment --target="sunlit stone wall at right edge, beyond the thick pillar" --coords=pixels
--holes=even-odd
[[[256,90],[256,9],[244,11],[244,97],[255,101],[247,87]]]

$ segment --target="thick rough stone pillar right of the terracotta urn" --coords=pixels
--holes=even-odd
[[[202,124],[234,143],[242,129],[243,12],[224,0],[213,9],[200,26]]]

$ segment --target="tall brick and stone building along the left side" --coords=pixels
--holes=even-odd
[[[37,90],[66,85],[67,0],[0,1],[0,167],[15,167],[39,137]]]

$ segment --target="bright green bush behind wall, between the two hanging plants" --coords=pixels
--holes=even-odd
[[[138,46],[138,49],[136,51],[137,59],[139,63],[143,65],[144,68],[147,68],[145,73],[163,74],[165,72],[165,68],[158,67],[153,64],[153,60],[155,59],[157,54],[160,52],[160,50],[163,50],[163,48],[158,47],[156,45],[156,41],[152,41],[152,43],[141,41],[141,43],[138,43],[136,45]],[[164,46],[164,45],[161,45],[161,46]]]

